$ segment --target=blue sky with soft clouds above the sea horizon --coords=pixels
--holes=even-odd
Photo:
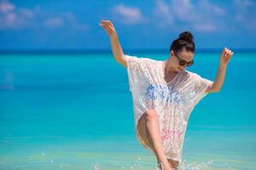
[[[109,49],[111,20],[123,49],[166,49],[182,31],[196,48],[256,48],[250,0],[0,0],[0,50]]]

